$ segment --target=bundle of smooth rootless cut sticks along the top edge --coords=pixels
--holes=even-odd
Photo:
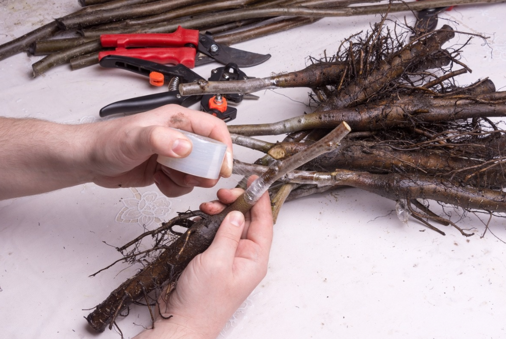
[[[86,6],[0,46],[0,60],[20,52],[47,55],[32,65],[33,76],[70,63],[78,69],[98,63],[99,36],[111,33],[170,33],[181,25],[217,34],[232,45],[312,23],[327,16],[419,11],[450,5],[504,0],[433,0],[364,5],[381,0],[79,0]],[[352,6],[353,5],[353,6]],[[362,5],[362,6],[357,6]],[[273,21],[276,18],[276,21]],[[243,27],[240,31],[237,28]],[[80,37],[51,38],[69,34]]]

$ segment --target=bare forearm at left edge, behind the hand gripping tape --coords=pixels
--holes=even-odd
[[[0,117],[0,199],[90,181],[86,125]]]

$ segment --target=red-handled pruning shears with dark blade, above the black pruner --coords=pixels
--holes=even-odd
[[[100,52],[99,60],[107,55],[118,55],[161,64],[183,64],[189,68],[212,61],[223,65],[233,62],[239,67],[250,67],[271,57],[270,54],[246,52],[220,45],[208,32],[200,34],[198,30],[181,26],[173,33],[103,34],[100,43],[102,47],[116,49]]]

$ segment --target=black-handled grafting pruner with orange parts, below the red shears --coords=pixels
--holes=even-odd
[[[100,110],[100,116],[102,117],[117,113],[145,112],[167,104],[178,104],[189,107],[200,100],[200,109],[202,111],[228,122],[236,117],[237,109],[228,105],[227,100],[233,103],[240,103],[244,97],[242,94],[211,94],[183,97],[178,90],[179,83],[204,80],[203,77],[183,64],[166,66],[138,58],[108,55],[100,60],[100,65],[107,68],[125,69],[148,76],[150,83],[156,86],[162,86],[165,81],[168,81],[168,92],[114,102]],[[246,74],[239,69],[237,64],[229,63],[226,66],[213,69],[209,80],[227,81],[247,78]]]

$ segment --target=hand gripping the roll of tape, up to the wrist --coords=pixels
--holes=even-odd
[[[169,197],[191,192],[193,187],[213,187],[218,180],[172,170],[156,162],[157,154],[181,158],[191,152],[191,142],[168,127],[209,137],[227,145],[220,175],[232,173],[232,142],[227,126],[210,114],[178,105],[114,120],[90,124],[94,136],[90,172],[92,181],[109,188],[147,186],[156,183]]]

